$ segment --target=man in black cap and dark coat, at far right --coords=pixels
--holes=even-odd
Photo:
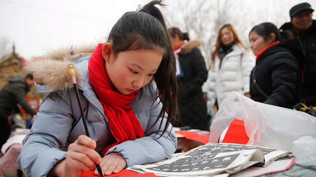
[[[316,106],[316,20],[312,19],[313,12],[309,3],[297,4],[290,10],[291,22],[280,28],[280,31],[294,31],[304,49],[305,59],[298,59],[303,60],[299,92],[307,106]]]

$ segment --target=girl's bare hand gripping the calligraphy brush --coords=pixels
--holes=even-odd
[[[63,174],[58,177],[79,177],[84,171],[95,169],[94,163],[101,163],[101,156],[94,150],[96,142],[86,135],[69,145],[64,162]]]

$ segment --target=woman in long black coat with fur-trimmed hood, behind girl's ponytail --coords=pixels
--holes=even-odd
[[[192,129],[210,130],[210,117],[201,88],[208,77],[204,58],[197,48],[201,43],[198,40],[189,41],[189,34],[182,33],[178,28],[169,28],[168,31],[172,36],[180,86],[180,121],[176,127],[190,126]]]

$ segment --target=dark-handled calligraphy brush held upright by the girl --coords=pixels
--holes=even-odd
[[[72,80],[72,83],[73,83],[73,86],[74,86],[74,90],[76,92],[77,100],[78,100],[78,103],[79,103],[79,108],[80,108],[81,116],[82,116],[82,119],[83,119],[82,122],[84,123],[84,127],[85,127],[85,130],[86,130],[86,135],[88,137],[90,137],[90,133],[89,133],[88,126],[87,126],[87,121],[86,121],[86,116],[85,116],[84,110],[82,108],[81,100],[79,98],[79,92],[78,92],[77,81],[76,81],[76,77],[75,77],[75,73],[74,73],[74,69],[73,69],[73,64],[68,64],[68,67],[69,67],[71,80]],[[97,170],[98,170],[99,174],[101,175],[101,177],[103,177],[100,164],[95,163],[95,167],[97,168]]]

